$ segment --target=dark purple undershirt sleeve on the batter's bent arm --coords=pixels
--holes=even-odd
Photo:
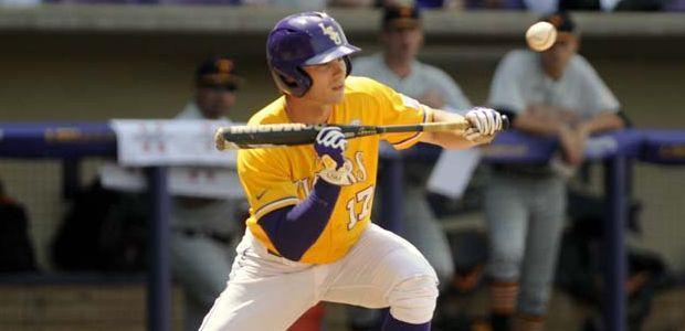
[[[339,193],[340,186],[318,180],[307,199],[262,216],[259,224],[283,257],[299,260],[328,224]]]

